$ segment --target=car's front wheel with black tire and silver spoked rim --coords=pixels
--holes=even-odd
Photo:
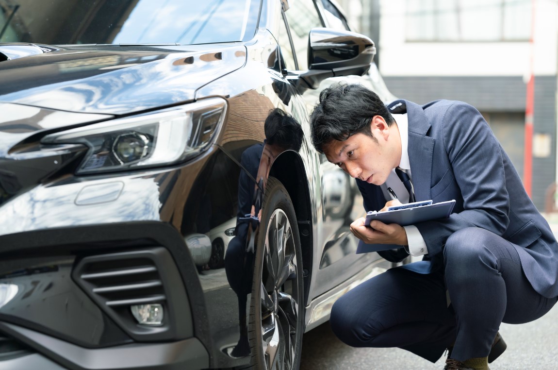
[[[252,367],[298,369],[304,331],[299,228],[285,187],[269,177],[254,259],[248,324]]]

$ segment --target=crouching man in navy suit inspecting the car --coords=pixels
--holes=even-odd
[[[379,252],[389,261],[424,257],[335,302],[330,323],[343,342],[400,347],[432,362],[448,348],[446,369],[488,369],[506,347],[502,322],[535,320],[556,303],[558,243],[475,108],[449,100],[386,107],[360,85],[334,85],[320,94],[311,134],[357,179],[367,211],[413,197],[456,201],[447,219],[351,224],[364,243],[393,244]]]

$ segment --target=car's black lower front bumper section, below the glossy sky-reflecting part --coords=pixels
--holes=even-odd
[[[138,255],[142,263],[152,261],[162,281],[167,321],[157,328],[132,323],[127,307],[111,312],[76,277],[76,269],[91,258],[102,258],[100,265],[115,271],[128,261],[126,256],[137,261]],[[116,265],[114,256],[120,258]],[[0,236],[0,261],[0,285],[4,292],[12,287],[11,294],[0,297],[0,368],[210,366],[211,340],[196,267],[169,224],[131,222],[8,234]]]

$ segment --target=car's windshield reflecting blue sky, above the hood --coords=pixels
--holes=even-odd
[[[208,44],[247,41],[261,0],[0,0],[0,42]]]

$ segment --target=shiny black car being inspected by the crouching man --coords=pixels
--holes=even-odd
[[[0,368],[298,368],[385,264],[308,124],[374,52],[330,0],[0,0]]]

